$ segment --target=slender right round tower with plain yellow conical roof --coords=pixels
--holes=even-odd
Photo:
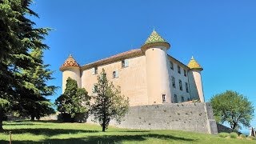
[[[190,68],[190,83],[195,86],[195,90],[197,90],[196,92],[198,94],[200,102],[205,102],[203,89],[202,89],[202,77],[201,77],[201,71],[203,70],[202,66],[198,64],[198,62],[194,59],[193,56],[190,59],[190,62],[187,66]]]

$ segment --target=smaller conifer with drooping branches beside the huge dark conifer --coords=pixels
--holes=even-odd
[[[31,121],[34,118],[40,119],[46,115],[54,114],[53,104],[47,96],[54,94],[56,86],[47,86],[46,82],[54,78],[51,77],[53,71],[47,69],[49,65],[44,65],[42,61],[43,51],[34,49],[30,55],[37,60],[38,66],[33,70],[22,70],[22,74],[26,74],[30,82],[39,90],[35,93],[33,90],[23,88],[20,90],[21,97],[18,103],[15,103],[12,110],[18,111],[22,116],[30,116]]]

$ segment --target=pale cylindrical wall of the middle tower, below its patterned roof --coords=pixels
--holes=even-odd
[[[166,47],[154,46],[145,54],[148,104],[162,103],[162,94],[170,103],[170,63],[167,61]]]

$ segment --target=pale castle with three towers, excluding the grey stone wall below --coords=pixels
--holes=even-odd
[[[79,66],[70,55],[60,67],[62,92],[68,77],[94,95],[97,76],[104,69],[107,78],[130,99],[130,106],[179,103],[191,100],[204,102],[202,67],[192,57],[188,65],[167,54],[170,43],[155,30],[140,49],[116,54]]]

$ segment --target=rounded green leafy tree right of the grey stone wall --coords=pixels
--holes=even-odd
[[[239,130],[240,124],[250,126],[250,121],[254,116],[254,106],[242,94],[227,90],[222,94],[214,95],[210,103],[217,122],[228,122],[233,130]]]

